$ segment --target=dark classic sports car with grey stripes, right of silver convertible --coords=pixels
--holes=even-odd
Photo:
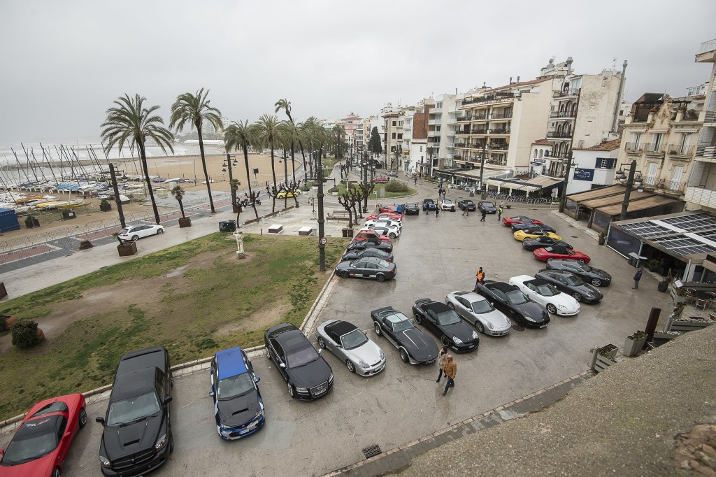
[[[420,331],[405,314],[384,307],[370,312],[375,334],[384,336],[400,351],[400,359],[413,365],[433,362],[437,359],[437,344]]]

